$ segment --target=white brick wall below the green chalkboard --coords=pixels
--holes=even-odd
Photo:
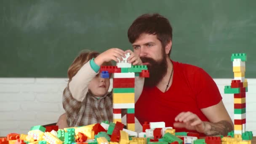
[[[223,93],[231,79],[214,80],[233,119],[233,96]],[[64,113],[61,101],[66,85],[66,78],[0,78],[0,136],[27,133],[33,125],[56,123]],[[248,85],[246,130],[256,133],[256,79],[248,79]]]

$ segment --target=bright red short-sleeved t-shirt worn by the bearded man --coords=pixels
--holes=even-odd
[[[209,121],[200,109],[216,105],[221,99],[216,83],[203,69],[173,61],[171,88],[163,93],[157,87],[144,87],[135,104],[135,116],[141,125],[144,121],[163,121],[166,127],[173,127],[174,118],[180,112],[190,111],[202,121]],[[174,129],[176,132],[195,132],[184,128]]]

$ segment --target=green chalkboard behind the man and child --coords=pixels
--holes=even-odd
[[[174,61],[231,78],[231,54],[247,53],[256,77],[255,0],[1,0],[0,77],[67,77],[83,49],[131,49],[127,30],[143,13],[170,20]]]

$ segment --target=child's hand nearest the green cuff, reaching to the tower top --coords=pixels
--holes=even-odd
[[[104,51],[103,53],[99,54],[94,59],[94,62],[101,66],[105,61],[116,61],[118,62],[118,59],[123,60],[122,57],[125,57],[125,51],[119,49],[119,48],[110,48],[107,51]],[[118,59],[117,59],[118,58]]]

